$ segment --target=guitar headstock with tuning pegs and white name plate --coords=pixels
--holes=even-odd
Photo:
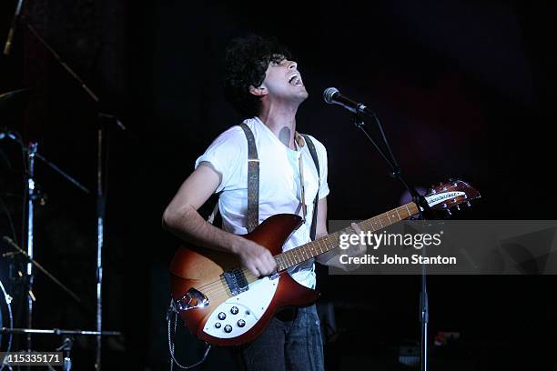
[[[462,204],[471,206],[470,201],[480,197],[480,192],[468,183],[451,180],[439,186],[432,186],[425,199],[431,209],[446,210],[451,214],[451,208],[456,207],[459,210]]]

